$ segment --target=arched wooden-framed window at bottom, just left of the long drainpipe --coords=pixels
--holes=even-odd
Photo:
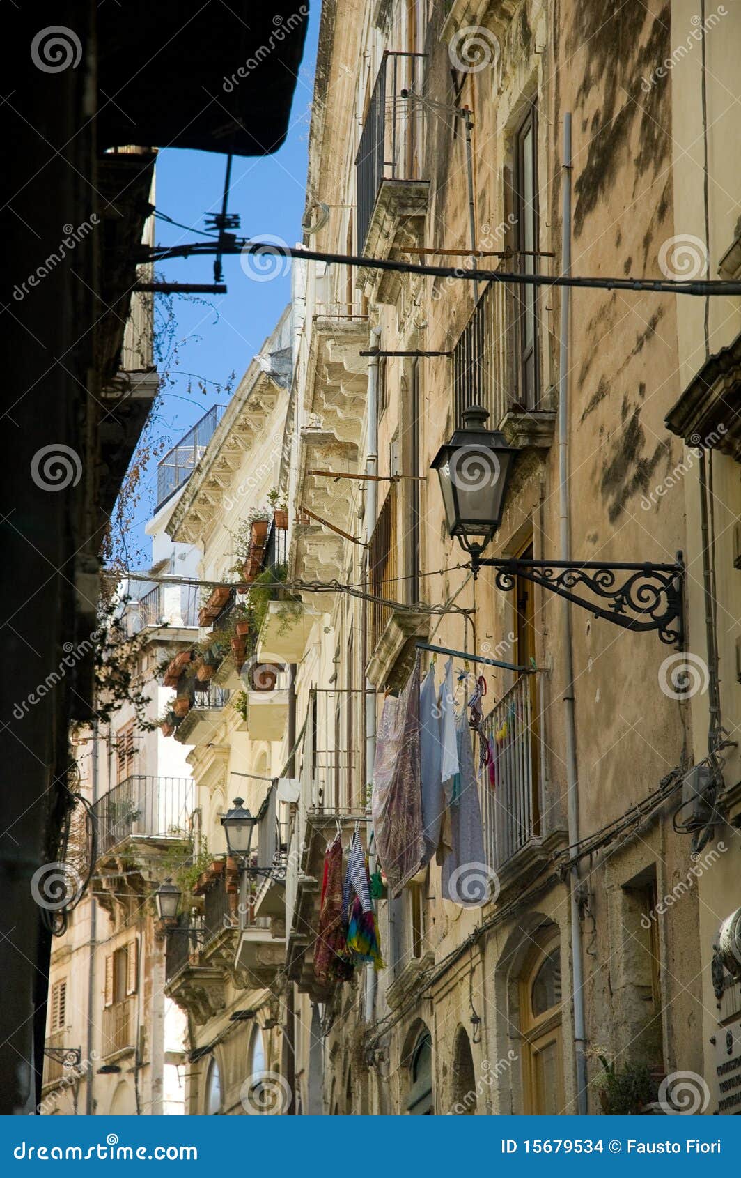
[[[529,960],[520,992],[525,1051],[525,1112],[563,1112],[561,947],[548,940]]]

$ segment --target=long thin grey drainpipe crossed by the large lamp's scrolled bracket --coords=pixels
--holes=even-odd
[[[563,165],[561,172],[562,196],[562,258],[561,272],[572,269],[572,115],[563,115]],[[561,560],[570,560],[569,489],[568,489],[568,327],[570,298],[569,287],[561,287],[561,339],[559,352],[559,531]],[[568,787],[568,841],[575,847],[579,841],[579,774],[576,769],[576,726],[574,722],[574,651],[572,643],[572,608],[563,601],[563,662],[566,691],[563,704],[566,715],[566,776]],[[587,1114],[587,1057],[585,1033],[585,995],[581,946],[581,921],[578,888],[579,867],[570,873],[570,924],[572,924],[572,990],[574,998],[574,1050],[576,1065],[576,1112]]]

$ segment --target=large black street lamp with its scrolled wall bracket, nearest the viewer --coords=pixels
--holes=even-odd
[[[496,588],[514,589],[519,578],[549,589],[626,630],[657,630],[666,643],[683,647],[682,591],[685,563],[602,561],[530,561],[482,556],[499,530],[518,448],[507,445],[498,430],[487,430],[488,413],[480,405],[463,410],[463,428],[440,448],[432,462],[438,471],[448,531],[470,555],[474,577],[496,569]],[[574,593],[587,589],[598,601]],[[600,604],[602,601],[605,604]]]

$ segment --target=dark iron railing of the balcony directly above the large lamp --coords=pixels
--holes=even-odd
[[[498,270],[520,272],[518,258],[499,263]],[[538,272],[538,258],[528,259],[528,272]],[[519,287],[493,279],[485,287],[470,319],[453,350],[455,421],[461,422],[468,405],[489,411],[488,425],[495,429],[510,410],[530,410],[532,395],[522,378],[521,332],[525,304]]]

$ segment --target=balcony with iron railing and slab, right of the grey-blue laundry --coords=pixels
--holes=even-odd
[[[487,862],[502,887],[550,861],[563,845],[559,815],[542,806],[538,675],[521,675],[494,707],[488,733],[495,783],[481,789]]]

